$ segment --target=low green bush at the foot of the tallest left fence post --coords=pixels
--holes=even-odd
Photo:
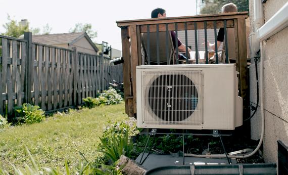
[[[39,123],[45,117],[45,112],[39,106],[24,103],[15,108],[15,113],[20,122],[32,124]]]

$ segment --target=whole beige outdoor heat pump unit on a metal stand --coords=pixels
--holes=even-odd
[[[226,129],[242,125],[233,64],[136,67],[137,126]]]

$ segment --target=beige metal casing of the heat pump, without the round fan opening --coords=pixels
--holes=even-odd
[[[147,72],[174,72],[199,71],[202,75],[201,85],[197,86],[199,104],[196,108],[199,112],[192,113],[183,121],[168,122],[157,118],[152,112],[147,112],[150,107],[146,86],[149,86],[156,77],[149,76],[151,80],[143,80]],[[147,79],[147,78],[146,78]],[[194,81],[193,76],[189,77]],[[200,82],[200,80],[197,80]],[[146,84],[143,84],[146,83]],[[198,83],[198,82],[196,82]],[[171,87],[173,88],[173,87]],[[141,128],[175,128],[175,129],[234,129],[242,125],[242,98],[237,96],[237,77],[233,64],[193,64],[193,65],[153,65],[136,67],[137,89],[137,126]],[[146,93],[146,94],[145,94]],[[168,105],[168,104],[167,104]],[[237,113],[236,113],[237,112]],[[199,120],[193,123],[190,117],[201,114]],[[189,122],[186,122],[188,121]],[[151,122],[153,121],[153,122]],[[196,121],[196,120],[195,120]]]

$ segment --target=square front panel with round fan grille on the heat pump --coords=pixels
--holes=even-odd
[[[142,72],[142,122],[201,125],[202,82],[201,70]]]

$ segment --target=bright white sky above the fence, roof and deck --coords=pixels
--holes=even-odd
[[[5,32],[8,14],[16,21],[27,19],[30,27],[40,30],[49,24],[51,33],[68,33],[77,23],[89,23],[98,32],[94,42],[106,41],[118,50],[121,31],[116,21],[151,18],[155,8],[165,9],[167,17],[196,15],[196,0],[0,0],[0,7],[0,33]]]

